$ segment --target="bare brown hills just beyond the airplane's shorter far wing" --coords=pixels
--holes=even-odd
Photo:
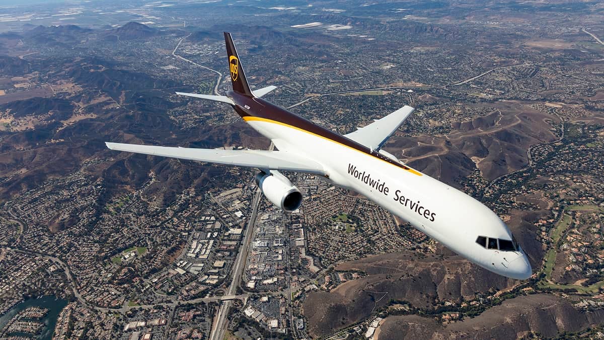
[[[451,122],[454,130],[446,136],[397,136],[385,148],[410,166],[451,185],[476,168],[490,181],[527,166],[529,146],[557,139],[547,122],[556,122],[557,117],[528,104],[485,104],[491,114]]]

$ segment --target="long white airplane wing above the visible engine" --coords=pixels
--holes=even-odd
[[[110,142],[106,142],[105,144],[112,150],[135,152],[137,154],[246,166],[249,168],[326,174],[323,166],[319,163],[286,151],[194,149]]]

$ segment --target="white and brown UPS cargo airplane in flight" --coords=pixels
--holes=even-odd
[[[403,106],[341,135],[297,116],[262,96],[275,86],[251,90],[231,34],[225,32],[233,90],[226,96],[179,93],[233,106],[239,116],[272,141],[277,151],[196,149],[107,142],[109,149],[220,163],[260,170],[255,182],[285,212],[300,208],[303,195],[280,171],[317,175],[364,195],[472,263],[516,280],[531,276],[528,257],[506,224],[489,208],[382,149],[414,110]]]

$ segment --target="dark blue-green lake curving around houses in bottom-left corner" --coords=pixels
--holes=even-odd
[[[59,313],[67,306],[67,300],[57,299],[54,295],[45,295],[39,299],[28,299],[14,306],[5,315],[0,316],[0,329],[2,329],[13,316],[17,315],[22,310],[33,306],[48,309],[48,314],[42,318],[42,322],[44,322],[46,327],[42,330],[42,335],[39,339],[51,340],[53,338],[54,326],[57,324]]]

